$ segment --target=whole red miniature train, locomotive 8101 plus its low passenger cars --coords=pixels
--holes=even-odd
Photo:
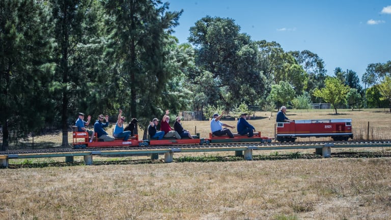
[[[322,119],[322,120],[295,120],[294,122],[277,122],[275,138],[265,137],[261,132],[255,132],[254,136],[234,134],[234,138],[227,135],[214,136],[209,133],[209,137],[194,139],[162,139],[162,140],[138,140],[138,135],[130,137],[127,141],[115,139],[111,142],[99,141],[95,136],[93,142],[89,142],[88,132],[73,131],[74,148],[103,148],[103,147],[139,147],[139,146],[172,146],[172,145],[209,145],[221,143],[271,143],[272,140],[278,142],[294,142],[297,137],[331,137],[334,141],[347,141],[353,139],[351,119]]]

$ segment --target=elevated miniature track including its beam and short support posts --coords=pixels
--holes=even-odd
[[[213,152],[235,151],[235,155],[244,156],[246,160],[253,159],[254,150],[292,150],[316,149],[323,157],[331,156],[331,148],[370,148],[391,147],[391,140],[371,141],[340,141],[340,142],[293,142],[293,143],[230,143],[211,145],[173,145],[173,146],[143,146],[143,147],[110,147],[87,149],[41,149],[0,151],[0,166],[8,167],[9,159],[65,157],[66,162],[72,162],[74,156],[83,156],[86,164],[93,164],[93,155],[140,155],[150,154],[157,159],[158,154],[164,154],[165,162],[173,161],[174,153],[181,152]],[[244,152],[244,155],[243,155]]]

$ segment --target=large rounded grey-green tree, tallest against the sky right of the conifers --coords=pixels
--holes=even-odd
[[[195,65],[212,74],[219,100],[232,107],[252,101],[264,90],[257,45],[231,18],[206,16],[190,28],[188,41],[195,46]],[[210,100],[210,103],[217,100]]]

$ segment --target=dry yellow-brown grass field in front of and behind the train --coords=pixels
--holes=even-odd
[[[369,139],[390,139],[386,109],[339,113],[288,111],[287,116],[351,118],[355,139],[367,139],[370,122]],[[257,113],[250,123],[273,136],[275,114],[269,120],[270,113]],[[207,121],[183,124],[191,132],[197,126],[201,136],[209,133]],[[313,155],[314,150],[300,152]],[[254,155],[284,153],[290,152]],[[10,160],[9,169],[0,169],[0,219],[391,219],[391,157],[178,162],[200,155],[228,158],[232,152],[178,153],[173,163],[148,157],[99,158],[111,162],[94,159],[94,166],[83,166],[82,158],[74,164],[57,162],[61,158],[42,168],[24,168],[28,166],[17,164],[29,161]]]

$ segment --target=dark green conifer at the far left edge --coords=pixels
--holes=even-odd
[[[51,42],[45,4],[3,0],[0,15],[0,124],[4,151],[10,139],[41,129],[53,116],[47,90]]]

